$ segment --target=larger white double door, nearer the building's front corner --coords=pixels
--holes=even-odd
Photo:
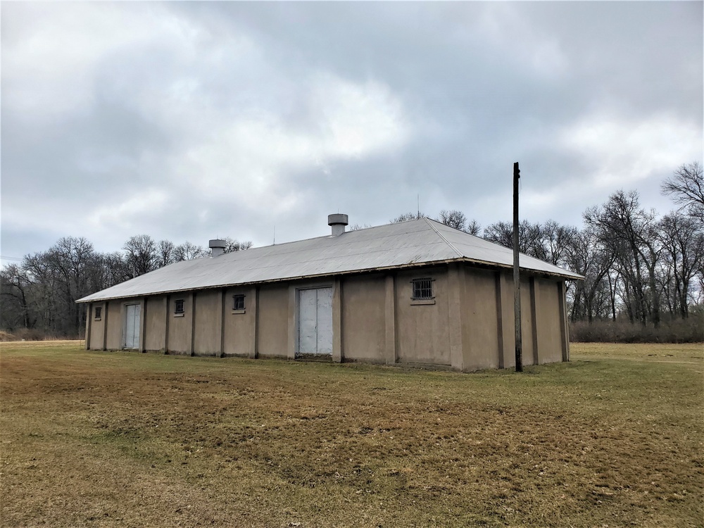
[[[332,354],[332,288],[298,290],[298,353]]]

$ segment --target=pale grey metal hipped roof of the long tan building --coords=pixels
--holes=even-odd
[[[401,268],[449,260],[513,265],[513,251],[498,244],[421,218],[274,246],[196,258],[165,266],[85,296],[77,302],[126,298],[299,277]],[[521,268],[581,279],[581,275],[526,255]]]

